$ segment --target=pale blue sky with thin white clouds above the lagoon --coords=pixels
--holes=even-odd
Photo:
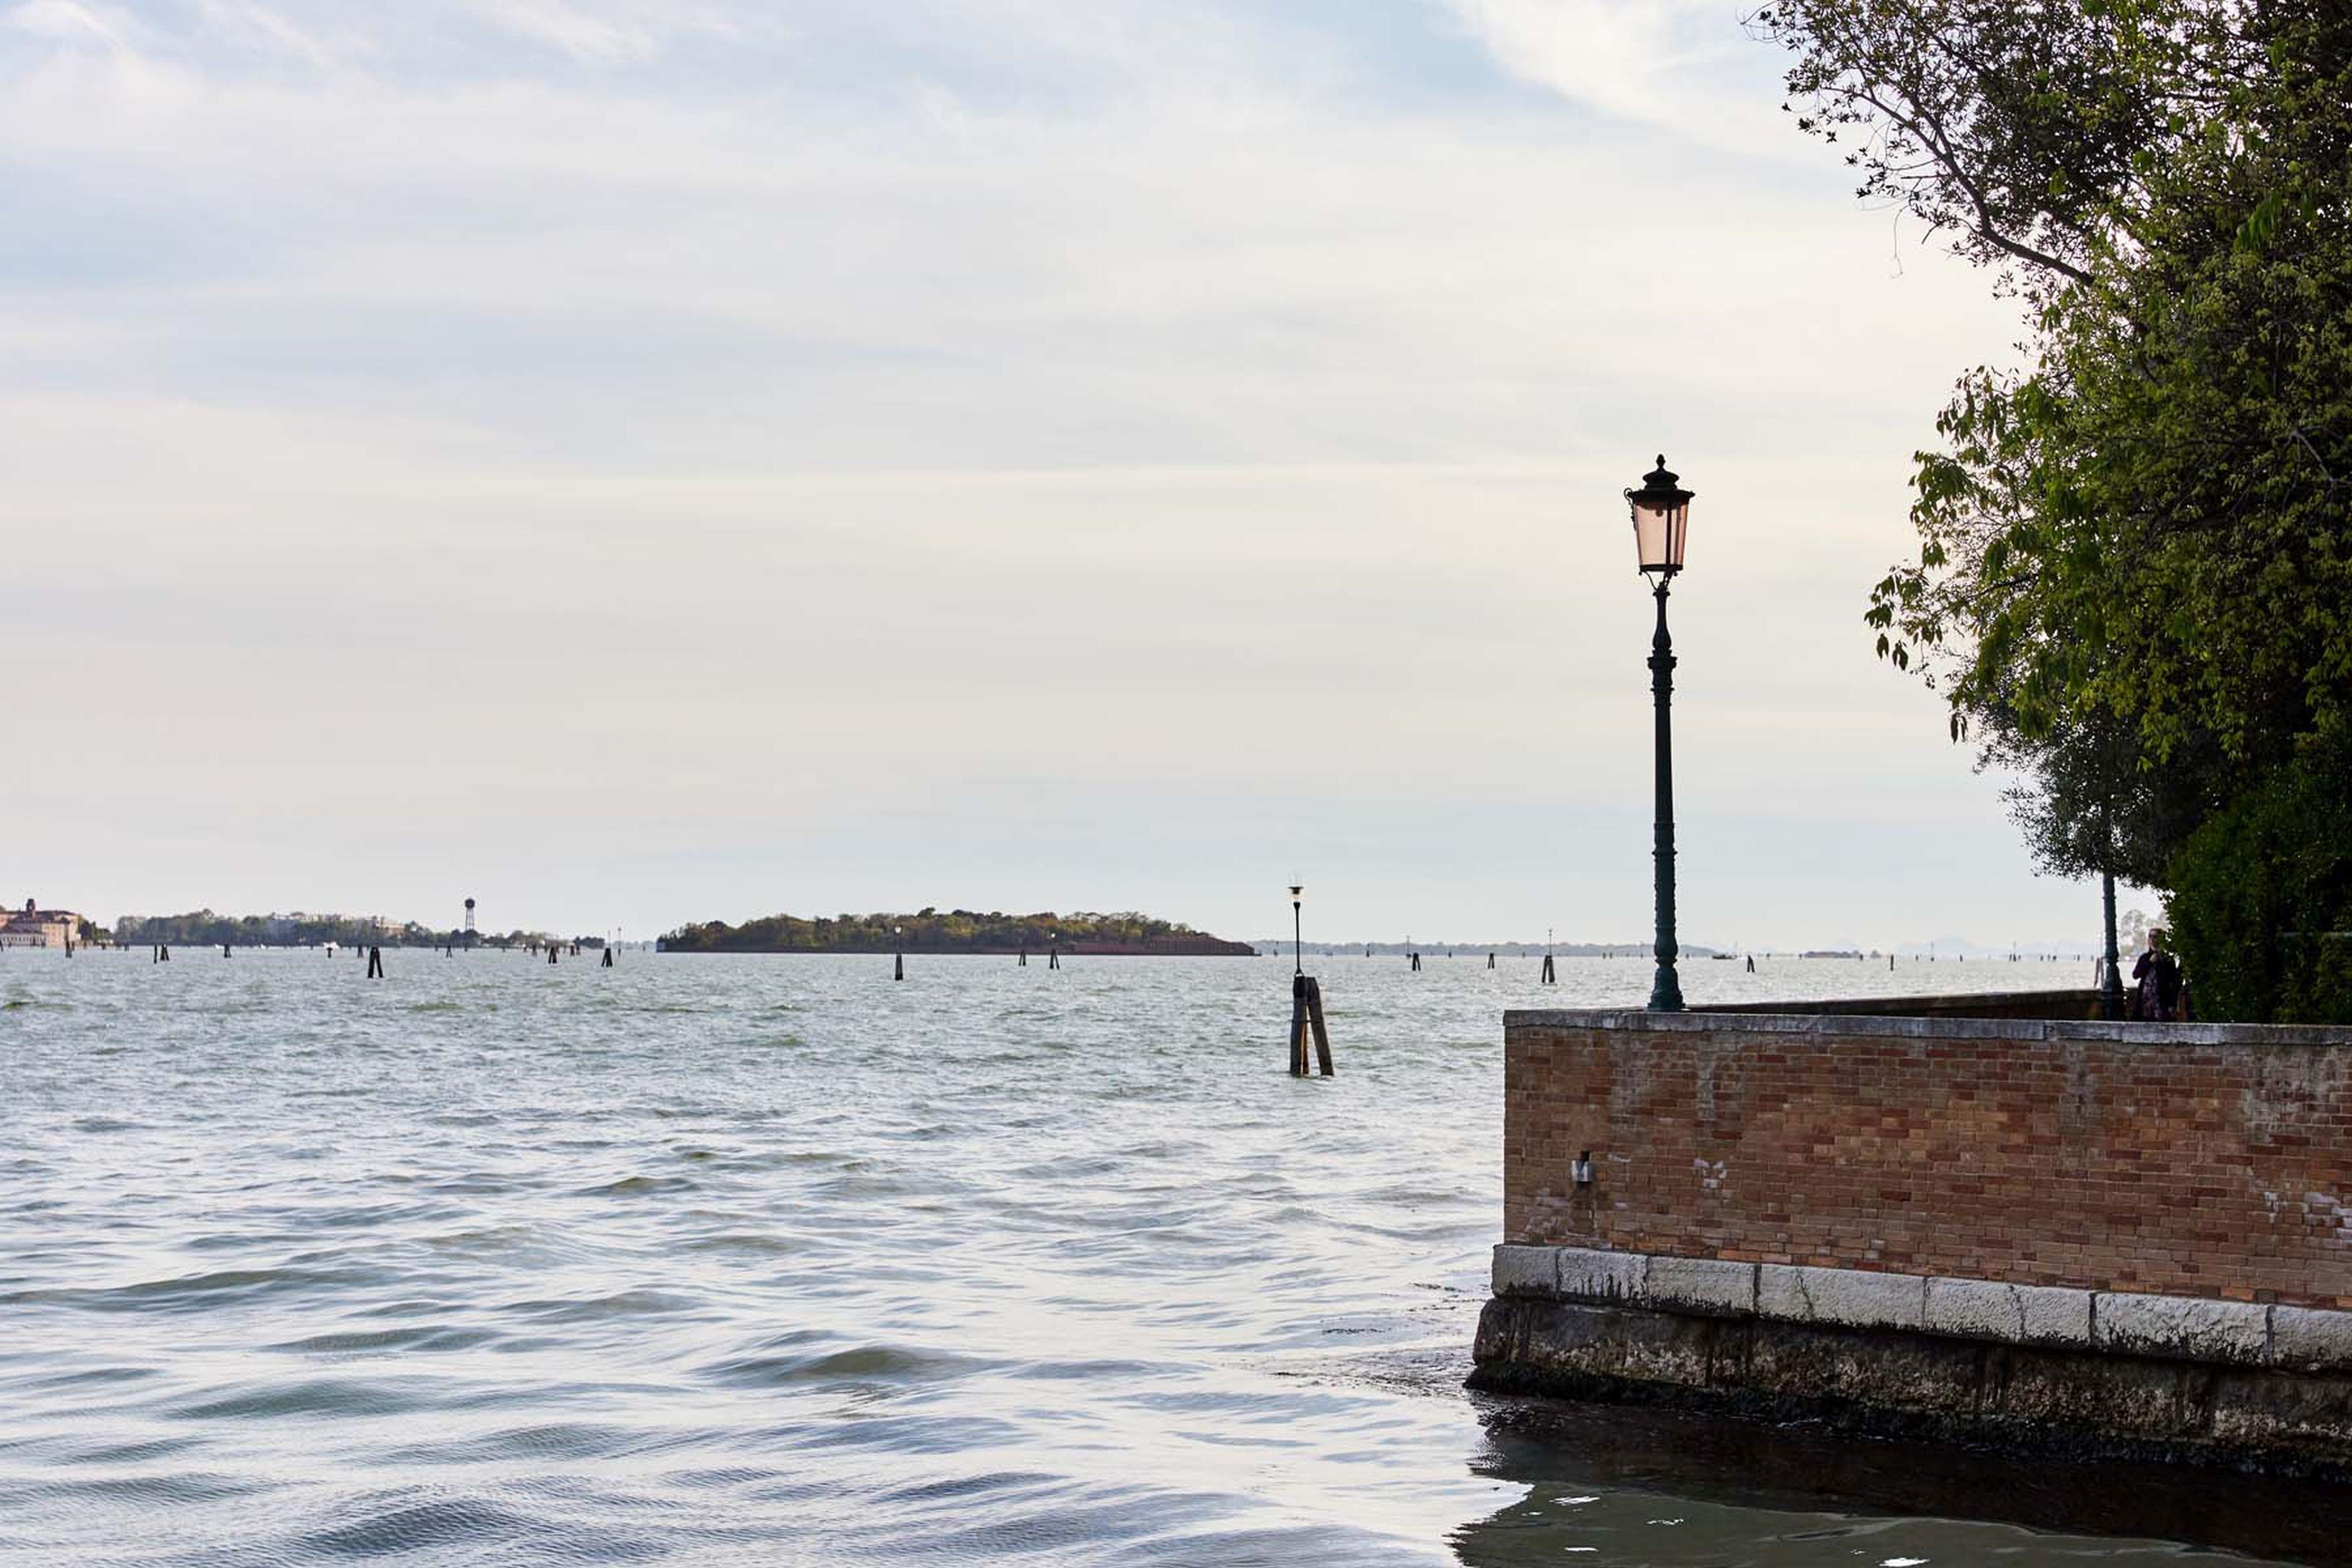
[[[0,898],[2077,940],[1738,0],[0,0]]]

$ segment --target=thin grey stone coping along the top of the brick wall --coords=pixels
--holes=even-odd
[[[1884,1013],[1651,1013],[1646,1009],[1510,1009],[1503,1030],[1621,1034],[1853,1034],[1872,1039],[2098,1039],[2133,1046],[2352,1046],[2352,1027],[2300,1023],[2107,1023],[2096,1018],[1933,1018]]]

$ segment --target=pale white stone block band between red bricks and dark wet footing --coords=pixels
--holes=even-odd
[[[2291,1373],[2352,1371],[2352,1312],[2326,1307],[1508,1241],[1494,1248],[1494,1293]]]

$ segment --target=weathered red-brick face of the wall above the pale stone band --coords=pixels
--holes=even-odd
[[[1503,1037],[1512,1241],[2352,1307],[2352,1030],[1508,1013]]]

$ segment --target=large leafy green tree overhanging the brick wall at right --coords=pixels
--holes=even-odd
[[[2027,308],[1912,473],[1877,651],[2197,1016],[2352,1023],[2352,5],[1788,0],[1797,127]]]

